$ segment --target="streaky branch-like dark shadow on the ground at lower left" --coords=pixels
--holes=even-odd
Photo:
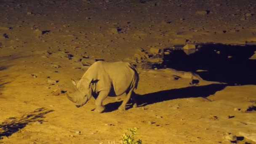
[[[0,139],[2,136],[11,136],[20,129],[24,128],[28,123],[40,122],[43,123],[45,114],[53,112],[53,110],[48,110],[46,108],[36,109],[34,112],[30,112],[22,117],[10,117],[5,122],[0,124]]]

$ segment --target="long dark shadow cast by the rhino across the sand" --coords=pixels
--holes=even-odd
[[[144,107],[148,104],[155,104],[157,102],[168,101],[172,99],[182,99],[182,98],[196,98],[210,96],[217,91],[223,90],[227,85],[225,84],[211,84],[203,86],[191,86],[187,88],[176,88],[171,90],[157,91],[154,93],[147,93],[143,95],[137,94],[137,104],[138,107]],[[112,112],[118,109],[122,101],[116,101],[105,105],[104,112]],[[130,109],[132,106],[128,104]]]

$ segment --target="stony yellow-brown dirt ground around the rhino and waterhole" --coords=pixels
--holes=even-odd
[[[120,144],[133,127],[143,144],[255,144],[256,85],[190,85],[137,67],[137,108],[120,112],[125,96],[108,97],[99,114],[93,98],[77,108],[65,96],[95,59],[253,44],[255,8],[254,0],[0,0],[0,144]]]

